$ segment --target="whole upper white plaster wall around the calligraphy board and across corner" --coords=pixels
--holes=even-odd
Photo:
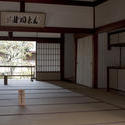
[[[96,7],[96,27],[125,19],[125,0],[108,0]],[[19,2],[0,1],[0,11],[20,11]],[[26,3],[26,12],[46,13],[48,27],[93,28],[93,8]]]

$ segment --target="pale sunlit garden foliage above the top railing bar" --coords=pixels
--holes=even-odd
[[[18,41],[1,41],[0,42],[0,62],[1,65],[21,66],[31,65],[26,61],[27,57],[31,57],[34,44],[32,42]]]

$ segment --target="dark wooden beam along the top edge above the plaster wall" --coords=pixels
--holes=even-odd
[[[0,0],[8,2],[20,2],[21,0]],[[41,4],[58,4],[58,5],[72,5],[72,6],[87,6],[94,7],[104,3],[107,0],[91,1],[73,1],[73,0],[24,0],[27,3],[41,3]]]

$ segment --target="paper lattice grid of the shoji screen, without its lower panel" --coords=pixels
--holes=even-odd
[[[60,43],[37,43],[37,72],[60,72]]]

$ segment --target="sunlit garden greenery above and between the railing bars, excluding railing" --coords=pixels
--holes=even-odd
[[[32,51],[35,48],[34,42],[25,41],[0,41],[0,66],[33,66],[35,60],[32,59]],[[19,68],[18,68],[19,70]],[[16,68],[2,68],[0,75],[13,75]],[[29,75],[30,69],[19,70],[20,75]]]

